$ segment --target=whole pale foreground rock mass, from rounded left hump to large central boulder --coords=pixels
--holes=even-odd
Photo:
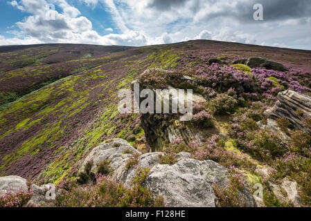
[[[114,144],[121,144],[115,146]],[[111,160],[112,180],[132,186],[136,175],[136,166],[150,168],[150,173],[143,184],[154,196],[163,195],[168,206],[215,206],[213,184],[225,186],[229,183],[228,171],[211,160],[199,161],[190,158],[190,153],[178,153],[177,163],[169,166],[159,164],[163,153],[145,153],[139,157],[136,166],[127,167],[130,154],[123,151],[135,151],[125,140],[114,139],[112,142],[100,144],[86,157],[80,171],[85,169],[89,160],[94,166],[103,160]],[[92,168],[93,170],[93,168]],[[94,167],[94,173],[96,168]],[[247,201],[247,206],[256,206],[256,202],[248,189],[240,193]]]

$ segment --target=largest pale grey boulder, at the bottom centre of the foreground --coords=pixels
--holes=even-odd
[[[174,207],[215,207],[213,184],[228,184],[228,171],[211,160],[199,161],[181,159],[177,164],[154,166],[145,187],[154,195],[163,195],[167,206]],[[247,189],[239,193],[248,206],[256,206]]]

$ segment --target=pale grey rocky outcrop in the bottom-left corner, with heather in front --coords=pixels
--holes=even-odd
[[[32,191],[33,196],[30,198],[26,206],[39,207],[55,200],[57,190],[53,184],[37,186],[35,184],[27,184],[27,180],[17,175],[9,175],[0,177],[0,195],[5,195],[8,191]]]

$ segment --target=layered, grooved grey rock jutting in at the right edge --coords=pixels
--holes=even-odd
[[[278,102],[267,111],[268,119],[285,117],[294,128],[299,128],[311,134],[311,131],[304,126],[304,117],[311,117],[311,97],[296,93],[292,90],[285,90],[278,93]]]

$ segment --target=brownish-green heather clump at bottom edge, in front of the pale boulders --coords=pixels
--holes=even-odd
[[[55,205],[57,207],[149,207],[164,206],[160,196],[152,198],[151,193],[142,186],[149,169],[137,167],[133,179],[134,186],[128,188],[121,182],[114,182],[109,176],[100,175],[96,180],[78,185],[73,180],[63,181],[59,188]]]

